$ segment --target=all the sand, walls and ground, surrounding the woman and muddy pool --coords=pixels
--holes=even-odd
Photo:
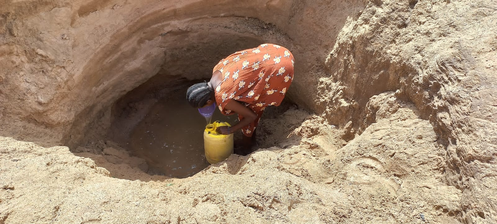
[[[0,5],[0,224],[497,222],[495,1]],[[261,149],[177,179],[106,139],[123,96],[262,42],[298,106]]]

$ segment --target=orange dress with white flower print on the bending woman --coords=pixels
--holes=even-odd
[[[257,115],[242,128],[251,137],[266,106],[279,106],[293,80],[292,53],[279,45],[261,44],[256,48],[236,52],[221,60],[213,69],[221,72],[223,79],[215,88],[216,103],[224,115],[229,99],[235,99],[252,109]],[[242,120],[243,116],[238,115]]]

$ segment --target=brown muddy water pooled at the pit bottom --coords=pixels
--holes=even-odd
[[[212,121],[238,122],[236,116],[214,113]],[[192,108],[183,94],[155,103],[134,128],[128,140],[133,154],[145,158],[149,173],[183,178],[209,165],[204,156],[206,120]]]

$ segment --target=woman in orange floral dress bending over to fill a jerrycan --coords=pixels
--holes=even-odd
[[[224,115],[238,114],[239,123],[220,127],[217,132],[244,134],[244,152],[255,141],[255,129],[266,106],[279,106],[293,80],[294,58],[284,47],[261,44],[236,52],[221,60],[213,69],[209,82],[190,86],[189,103],[200,108],[217,103]]]

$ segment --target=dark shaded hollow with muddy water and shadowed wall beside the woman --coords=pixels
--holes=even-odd
[[[94,122],[109,125],[107,128],[92,128],[93,134],[83,141],[83,149],[95,148],[92,144],[98,141],[112,142],[118,146],[116,148],[126,150],[132,157],[143,158],[148,165],[139,167],[152,175],[184,178],[203,170],[209,165],[203,148],[206,120],[188,104],[186,89],[193,83],[209,80],[212,68],[219,60],[264,42],[258,38],[234,37],[231,42],[225,40],[190,45],[165,52],[166,60],[156,75],[120,97],[112,104],[110,115],[98,118],[100,122]],[[223,50],[220,52],[219,49]],[[188,79],[191,74],[201,79]],[[295,108],[294,104],[285,99],[280,107],[268,108],[262,119],[282,115],[292,107]],[[238,117],[223,116],[216,110],[212,121],[216,120],[235,124]],[[278,132],[261,132],[264,136],[258,138],[259,146],[276,144],[271,135],[279,135]],[[236,133],[235,141],[241,137],[241,132]],[[96,146],[100,149],[106,147],[108,145]],[[133,162],[129,161],[129,164],[133,165]]]

